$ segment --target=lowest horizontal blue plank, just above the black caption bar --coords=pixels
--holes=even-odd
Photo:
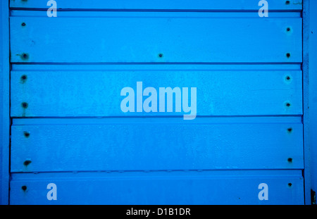
[[[23,173],[11,177],[10,204],[304,204],[300,170]],[[56,184],[57,200],[46,198],[49,183]],[[268,200],[259,200],[261,183],[268,186]]]

